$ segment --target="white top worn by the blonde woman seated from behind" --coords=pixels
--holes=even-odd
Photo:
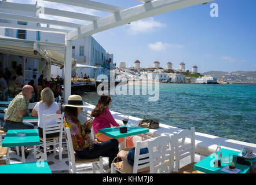
[[[43,128],[43,114],[56,114],[57,110],[60,109],[57,102],[53,102],[53,104],[47,108],[45,102],[37,102],[35,105],[35,110],[38,112],[38,127]],[[53,125],[57,124],[56,120],[46,120],[45,125]]]

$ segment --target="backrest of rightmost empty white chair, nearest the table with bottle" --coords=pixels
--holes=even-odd
[[[173,135],[175,139],[175,171],[178,171],[182,158],[191,156],[191,162],[195,161],[195,128],[174,132]],[[188,143],[189,138],[191,141]]]

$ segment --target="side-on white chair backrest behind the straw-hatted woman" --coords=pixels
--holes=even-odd
[[[64,132],[66,135],[66,140],[67,140],[67,148],[68,148],[68,159],[69,159],[69,165],[70,169],[75,172],[75,153],[74,153],[74,148],[72,144],[72,138],[71,138],[71,133],[70,133],[70,128],[64,127]]]

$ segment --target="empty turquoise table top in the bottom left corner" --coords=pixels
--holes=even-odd
[[[0,173],[52,173],[47,161],[0,165]]]

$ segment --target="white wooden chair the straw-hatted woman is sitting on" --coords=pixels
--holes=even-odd
[[[72,144],[72,138],[70,133],[70,128],[64,127],[64,132],[67,136],[67,148],[68,148],[68,166],[70,173],[79,173],[79,172],[88,172],[100,171],[103,173],[103,158],[80,158],[75,155],[75,151]],[[92,169],[88,169],[92,166]]]

